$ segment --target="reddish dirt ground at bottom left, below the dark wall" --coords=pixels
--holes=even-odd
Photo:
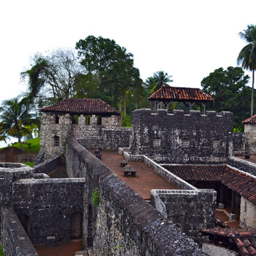
[[[67,243],[48,247],[45,244],[34,245],[39,256],[74,256],[76,252],[83,250],[83,242],[78,239]]]

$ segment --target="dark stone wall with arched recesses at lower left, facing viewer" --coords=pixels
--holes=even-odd
[[[70,240],[72,214],[83,214],[84,179],[16,180],[12,205],[16,214],[29,219],[29,238],[33,244]]]

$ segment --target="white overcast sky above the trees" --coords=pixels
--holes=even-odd
[[[255,0],[1,1],[0,102],[26,89],[20,72],[35,52],[75,47],[88,35],[132,52],[144,81],[164,70],[173,86],[200,88],[214,69],[236,66],[245,45],[237,34],[256,24],[255,10]]]

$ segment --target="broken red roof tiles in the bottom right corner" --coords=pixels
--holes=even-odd
[[[255,256],[256,255],[256,229],[233,229],[233,228],[202,228],[200,230],[204,234],[216,235],[220,237],[228,237],[236,244],[236,251],[240,256]]]

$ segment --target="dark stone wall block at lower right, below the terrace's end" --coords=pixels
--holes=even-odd
[[[159,198],[155,197],[156,193],[151,193],[154,207],[157,210],[159,207],[160,212],[166,212],[167,218],[178,225],[186,235],[202,243],[202,233],[198,229],[214,227],[216,191],[213,189],[155,191]],[[165,205],[165,210],[159,199]]]

